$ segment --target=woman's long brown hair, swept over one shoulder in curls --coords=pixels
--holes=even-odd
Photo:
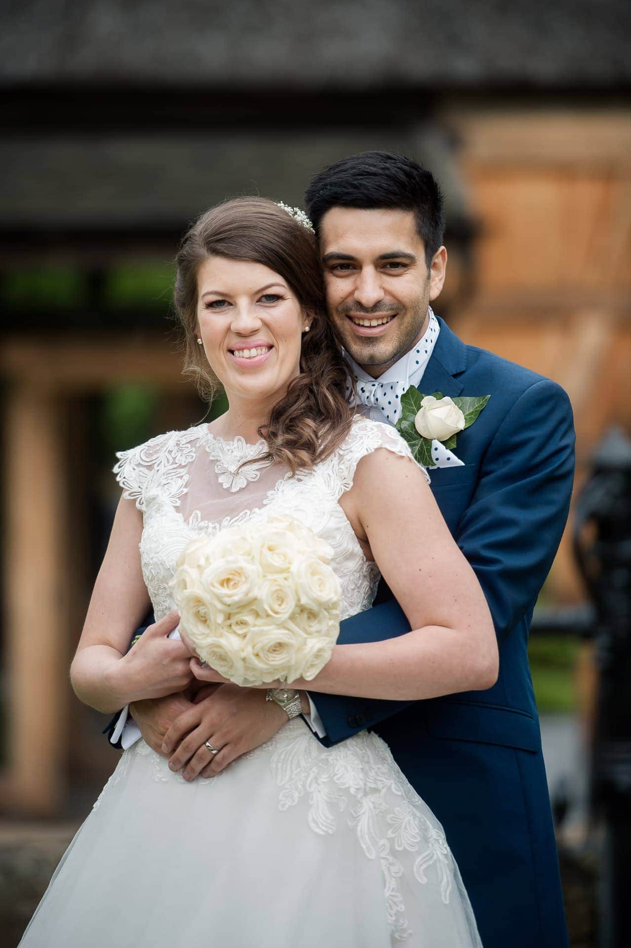
[[[292,473],[333,453],[351,428],[349,386],[353,384],[341,344],[326,316],[324,285],[315,235],[273,201],[237,197],[198,218],[175,258],[173,300],[184,332],[184,370],[207,400],[221,390],[197,343],[197,273],[209,257],[263,264],[278,273],[297,296],[311,330],[302,337],[300,374],[259,428],[270,461]],[[259,458],[257,460],[260,460]]]

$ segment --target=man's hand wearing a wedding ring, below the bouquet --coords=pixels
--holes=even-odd
[[[199,774],[215,776],[232,760],[273,738],[288,720],[276,702],[265,701],[259,688],[222,684],[173,721],[161,753],[171,757],[171,770],[183,770],[187,780]],[[206,741],[217,748],[214,757]]]

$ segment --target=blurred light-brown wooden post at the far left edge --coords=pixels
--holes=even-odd
[[[35,375],[37,377],[37,375]],[[62,401],[9,385],[5,426],[9,777],[3,796],[29,815],[59,812],[66,742]]]

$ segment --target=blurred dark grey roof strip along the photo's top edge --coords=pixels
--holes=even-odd
[[[628,0],[9,0],[0,86],[628,87]]]

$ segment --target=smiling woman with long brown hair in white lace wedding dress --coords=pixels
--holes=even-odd
[[[71,667],[81,701],[111,712],[191,685],[199,663],[167,637],[176,560],[195,536],[271,514],[334,548],[342,618],[370,607],[383,574],[413,629],[336,646],[311,690],[420,700],[493,684],[491,617],[426,473],[347,400],[311,230],[260,198],[208,210],[178,254],[175,302],[189,370],[204,391],[218,380],[229,408],[119,454]],[[156,623],[127,651],[150,605]],[[192,731],[176,772],[142,740],[125,751],[21,945],[479,946],[442,827],[387,744],[365,731],[326,749],[298,713],[210,778],[182,770],[219,759],[227,723]]]

